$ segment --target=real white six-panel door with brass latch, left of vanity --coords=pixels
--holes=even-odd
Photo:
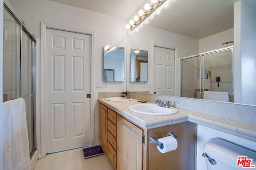
[[[90,35],[46,29],[46,152],[90,145]]]

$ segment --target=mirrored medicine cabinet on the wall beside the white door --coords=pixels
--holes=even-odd
[[[103,81],[124,81],[124,47],[103,46]]]

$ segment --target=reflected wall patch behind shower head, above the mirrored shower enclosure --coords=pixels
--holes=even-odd
[[[234,45],[233,43],[224,44],[222,43],[234,41],[234,29],[228,29],[226,31],[222,31],[220,33],[216,33],[209,37],[205,37],[199,39],[199,53],[204,53],[206,51],[211,51],[214,49],[220,49],[224,47],[229,47]]]

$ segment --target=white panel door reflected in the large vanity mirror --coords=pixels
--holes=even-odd
[[[174,50],[154,47],[154,93],[175,95]]]

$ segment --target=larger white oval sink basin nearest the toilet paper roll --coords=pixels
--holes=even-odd
[[[135,104],[128,107],[128,109],[135,113],[146,114],[146,115],[160,115],[160,116],[173,115],[178,112],[177,109],[172,107],[165,108],[165,107],[160,107],[152,104]]]

